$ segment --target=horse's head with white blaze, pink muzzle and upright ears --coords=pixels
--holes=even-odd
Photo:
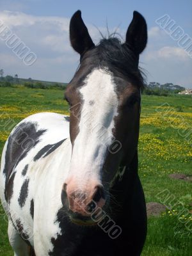
[[[147,24],[133,13],[124,44],[109,37],[94,45],[77,11],[70,20],[70,42],[80,58],[68,84],[70,172],[61,199],[72,220],[88,220],[104,207],[120,164],[136,152],[143,79],[139,55],[147,44]]]

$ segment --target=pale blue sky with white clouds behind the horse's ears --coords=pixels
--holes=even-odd
[[[192,88],[192,57],[179,45],[179,37],[171,35],[179,26],[192,42],[191,0],[0,0],[0,25],[6,25],[36,55],[36,61],[26,65],[2,40],[0,27],[0,69],[4,75],[68,83],[79,64],[68,35],[70,18],[77,10],[81,10],[95,44],[101,39],[98,29],[108,35],[107,26],[111,33],[118,31],[124,42],[132,12],[140,12],[148,25],[147,48],[140,56],[147,81]],[[164,15],[173,20],[170,30],[156,22]]]

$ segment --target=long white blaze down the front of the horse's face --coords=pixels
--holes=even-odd
[[[80,184],[90,175],[92,179],[100,179],[106,152],[115,139],[112,130],[118,115],[118,97],[113,77],[101,69],[93,70],[86,77],[79,92],[83,106],[70,172],[75,173]]]

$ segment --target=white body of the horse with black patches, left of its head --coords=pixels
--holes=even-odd
[[[15,255],[28,255],[24,253],[28,246],[21,246],[25,242],[19,235],[35,246],[38,255],[47,255],[52,250],[51,239],[61,232],[56,214],[62,207],[61,189],[70,165],[68,137],[67,116],[38,113],[20,122],[6,141],[1,160],[1,202],[8,214]]]

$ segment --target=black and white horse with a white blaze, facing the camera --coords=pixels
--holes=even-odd
[[[138,256],[147,235],[138,176],[147,24],[134,11],[125,42],[111,35],[95,45],[78,10],[69,34],[80,56],[65,90],[70,116],[28,116],[3,148],[9,241],[15,256]]]

